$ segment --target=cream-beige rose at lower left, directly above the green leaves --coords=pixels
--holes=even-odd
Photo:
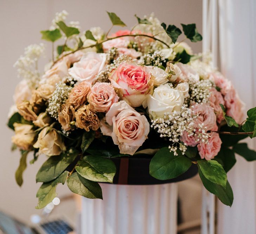
[[[55,129],[50,127],[42,129],[38,135],[37,142],[34,143],[34,148],[39,148],[39,154],[47,156],[59,155],[62,151],[66,151],[61,136]]]

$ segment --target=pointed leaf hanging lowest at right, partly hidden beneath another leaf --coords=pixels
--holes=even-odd
[[[203,182],[204,187],[210,193],[215,194],[223,204],[231,207],[234,196],[229,182],[227,181],[226,188],[223,188],[221,185],[217,185],[216,183],[206,179],[200,168],[198,168],[198,174]]]

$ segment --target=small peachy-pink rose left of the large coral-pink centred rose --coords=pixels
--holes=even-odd
[[[119,97],[110,83],[97,82],[87,99],[94,111],[107,112],[114,103],[118,102]]]

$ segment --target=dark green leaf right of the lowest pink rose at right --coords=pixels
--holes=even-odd
[[[222,165],[225,172],[228,172],[236,163],[234,152],[224,146],[221,147],[221,150],[217,156],[215,156],[214,160],[218,161]]]

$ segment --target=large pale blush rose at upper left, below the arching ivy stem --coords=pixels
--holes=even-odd
[[[78,81],[95,82],[98,73],[105,67],[106,54],[87,52],[79,62],[68,69],[68,73]]]

